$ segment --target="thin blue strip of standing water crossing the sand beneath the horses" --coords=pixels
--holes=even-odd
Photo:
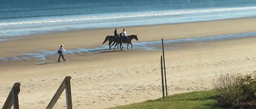
[[[255,37],[256,31],[251,33],[241,33],[241,34],[229,34],[229,35],[218,35],[218,36],[204,36],[204,37],[192,37],[187,39],[174,39],[174,40],[164,40],[165,44],[169,43],[192,43],[192,42],[209,42],[209,41],[223,41],[223,40],[234,40],[234,39],[245,39],[250,37]],[[134,46],[136,46],[133,49],[137,50],[160,50],[157,49],[156,46],[159,46],[161,44],[160,41],[147,41],[147,42],[133,42]],[[153,44],[153,45],[150,45]],[[112,46],[111,48],[114,49],[115,46]],[[131,47],[131,46],[130,46]],[[125,48],[125,46],[124,46]],[[116,48],[118,50],[118,48]],[[67,50],[64,52],[65,55],[68,54],[81,54],[81,53],[97,53],[97,52],[106,52],[109,50],[109,47],[107,45],[100,46],[100,47],[94,47],[94,48],[76,48]],[[19,57],[11,57],[11,58],[0,58],[0,61],[15,61],[15,60],[29,60],[29,59],[37,59],[41,61],[45,61],[47,56],[53,56],[56,55],[56,51],[53,50],[44,50],[44,49],[37,49],[37,53],[20,53],[17,55],[20,55]],[[44,62],[40,64],[45,64]],[[39,65],[40,65],[39,64]]]

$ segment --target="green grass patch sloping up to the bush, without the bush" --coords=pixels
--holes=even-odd
[[[189,108],[189,109],[224,109],[221,107],[216,107],[215,96],[218,94],[217,91],[199,91],[199,92],[190,92],[183,94],[170,95],[165,98],[160,98],[157,100],[148,100],[137,104],[130,104],[125,106],[117,106],[110,109],[124,109],[124,108],[171,108],[171,109],[180,109],[180,108]]]

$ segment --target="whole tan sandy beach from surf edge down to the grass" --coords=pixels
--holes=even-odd
[[[191,37],[239,34],[256,31],[255,17],[207,22],[126,27],[139,41],[160,41]],[[121,33],[123,28],[117,28]],[[101,47],[115,28],[69,31],[17,37],[2,37],[0,58],[21,57],[19,53],[56,50],[45,60],[0,61],[0,107],[15,82],[20,82],[22,109],[46,108],[65,76],[71,76],[73,108],[109,108],[162,97],[159,50],[103,49],[96,52],[64,54],[57,62],[57,49]],[[256,70],[256,37],[165,44],[168,94],[212,89],[213,79],[225,73],[248,74]],[[104,45],[107,45],[105,43]],[[66,108],[63,92],[54,108]]]

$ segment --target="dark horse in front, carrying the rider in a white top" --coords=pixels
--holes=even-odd
[[[128,39],[127,39],[127,37],[128,37]],[[130,43],[132,45],[132,47],[130,49],[132,49],[133,44],[131,42],[133,39],[136,39],[138,41],[138,37],[137,37],[137,35],[130,35],[127,37],[126,36],[116,37],[116,44],[115,44],[114,50],[115,50],[117,44],[120,44],[120,48],[121,48],[122,43],[127,43],[127,49],[129,49],[128,46]],[[121,50],[122,50],[122,48],[121,48]]]

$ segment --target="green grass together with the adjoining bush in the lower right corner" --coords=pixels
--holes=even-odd
[[[215,89],[211,91],[175,94],[157,100],[148,100],[138,104],[118,106],[111,109],[140,108],[256,108],[256,72],[245,76],[224,74],[214,81]]]

